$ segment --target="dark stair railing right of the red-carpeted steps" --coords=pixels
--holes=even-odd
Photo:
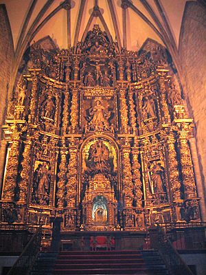
[[[194,275],[183,259],[181,259],[178,252],[173,248],[168,236],[159,225],[150,228],[149,231],[151,248],[159,250],[171,275]]]

